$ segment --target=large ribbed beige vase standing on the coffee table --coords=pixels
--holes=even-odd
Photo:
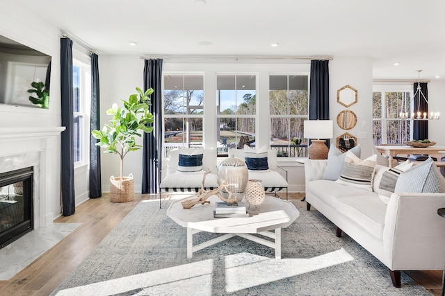
[[[245,186],[248,184],[249,171],[248,166],[245,165],[241,159],[232,155],[220,163],[218,168],[218,183],[225,180],[228,184],[227,190],[232,192],[232,197],[236,197],[238,202],[241,202],[244,197]],[[223,189],[221,194],[227,198],[229,193]]]

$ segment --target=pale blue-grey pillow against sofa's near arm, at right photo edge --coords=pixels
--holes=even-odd
[[[398,177],[394,192],[445,193],[445,178],[431,158],[408,168]]]

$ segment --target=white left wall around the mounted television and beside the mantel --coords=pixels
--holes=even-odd
[[[49,109],[0,105],[0,128],[38,128],[60,126],[60,30],[35,17],[14,1],[0,10],[0,35],[51,55],[51,85]],[[37,144],[37,143],[36,143]],[[35,147],[38,147],[37,145]],[[44,180],[45,207],[60,215],[60,136],[51,141],[51,162]],[[42,172],[44,173],[44,172]],[[51,219],[50,219],[51,220]]]

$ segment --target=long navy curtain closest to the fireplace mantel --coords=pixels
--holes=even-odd
[[[60,87],[62,126],[65,126],[61,135],[62,214],[70,216],[76,210],[74,201],[72,41],[70,38],[60,39]]]

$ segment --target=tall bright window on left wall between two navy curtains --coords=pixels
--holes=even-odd
[[[86,110],[91,98],[91,76],[89,64],[73,60],[73,140],[74,164],[88,162],[88,139],[90,121]]]

